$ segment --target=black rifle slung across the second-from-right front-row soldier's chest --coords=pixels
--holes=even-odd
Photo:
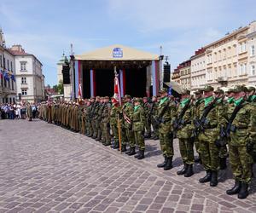
[[[194,120],[195,136],[198,135],[201,131],[202,132],[204,131],[204,125],[208,124],[207,115],[212,110],[212,108],[214,107],[214,105],[217,101],[218,101],[218,96],[212,101],[212,103],[208,107],[206,107],[201,118],[199,120],[197,120],[197,119]]]

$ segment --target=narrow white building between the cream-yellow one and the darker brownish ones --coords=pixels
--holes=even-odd
[[[198,49],[191,58],[191,90],[204,88],[206,84],[205,49]]]

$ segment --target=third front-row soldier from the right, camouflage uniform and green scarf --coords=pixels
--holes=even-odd
[[[177,117],[174,122],[174,130],[177,131],[179,142],[179,151],[183,158],[183,169],[177,171],[177,175],[185,177],[193,176],[194,150],[192,131],[194,130],[192,101],[190,91],[185,89],[182,93],[182,99],[177,107]]]

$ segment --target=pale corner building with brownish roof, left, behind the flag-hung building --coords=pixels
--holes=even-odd
[[[15,55],[17,96],[20,94],[22,101],[43,101],[42,63],[35,55],[26,53],[21,45],[13,45],[9,51]]]

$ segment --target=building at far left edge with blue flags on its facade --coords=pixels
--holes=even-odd
[[[0,29],[0,103],[15,103],[15,55],[5,47]]]

